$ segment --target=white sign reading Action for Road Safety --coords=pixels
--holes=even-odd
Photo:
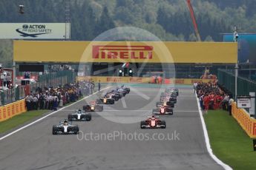
[[[65,39],[65,28],[66,23],[0,23],[0,39]]]

